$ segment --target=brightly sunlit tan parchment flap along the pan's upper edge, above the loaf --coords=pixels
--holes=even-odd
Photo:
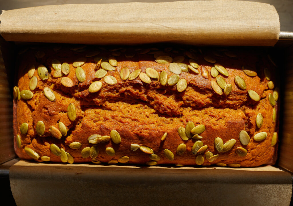
[[[0,31],[20,42],[273,46],[280,23],[274,6],[250,1],[67,4],[2,11]]]

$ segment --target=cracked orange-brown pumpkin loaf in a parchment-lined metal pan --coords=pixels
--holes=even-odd
[[[102,57],[106,57],[105,62],[110,62],[114,67],[109,67],[109,63],[102,63],[97,67],[97,62]],[[113,57],[117,59],[117,66],[115,59],[111,61]],[[194,59],[191,62],[190,57]],[[110,61],[107,60],[108,58]],[[77,59],[79,59],[78,62],[85,61],[85,63],[78,64]],[[163,59],[167,59],[167,62]],[[52,67],[52,60],[57,70]],[[176,64],[173,63],[174,61]],[[62,77],[54,77],[61,71],[58,70],[61,64],[62,71],[67,73],[64,62],[69,64],[69,74],[62,73]],[[183,65],[185,69],[187,66],[190,67],[190,64],[194,67],[198,64],[198,67],[191,67],[193,71],[189,69],[189,72],[180,70],[178,72],[177,63],[179,62],[185,64]],[[218,70],[212,67],[217,67],[219,71],[225,73],[225,69],[221,70],[222,67],[217,64],[226,68],[229,75],[220,72],[217,75]],[[48,70],[47,76],[42,73],[42,65]],[[254,72],[244,73],[243,66],[251,67],[250,70]],[[114,70],[105,70],[108,67]],[[141,69],[141,73],[133,80],[122,80],[121,76],[128,77],[128,70],[125,67],[130,73],[137,69]],[[31,68],[35,68],[35,71],[30,70]],[[125,76],[123,72],[120,74],[122,68],[125,68],[123,69]],[[147,68],[152,68],[158,73]],[[100,74],[106,73],[106,76],[97,78],[95,74],[98,69],[102,69]],[[30,48],[19,55],[17,86],[21,92],[21,98],[18,100],[16,97],[13,100],[15,151],[23,159],[69,163],[91,162],[94,159],[95,163],[109,164],[117,162],[149,165],[220,163],[219,166],[234,167],[274,164],[277,144],[271,145],[274,142],[272,141],[274,132],[278,129],[277,120],[273,121],[274,108],[278,114],[278,101],[274,99],[277,92],[274,69],[274,65],[265,52],[253,49],[234,49],[231,52],[220,48],[203,48],[202,50],[197,48],[107,48],[104,50],[104,48],[90,46]],[[148,77],[148,75],[160,77],[161,72],[165,71],[170,79],[172,75],[175,75],[170,70],[180,73],[179,78],[177,76],[180,79],[179,83],[173,86],[162,85],[164,83],[159,81],[161,78]],[[83,71],[85,78],[82,78]],[[242,80],[236,76],[240,76]],[[71,79],[72,83],[70,80],[64,81],[68,80],[64,77]],[[219,77],[224,79],[222,84],[220,83],[222,79]],[[176,79],[176,76],[172,78]],[[184,86],[184,79],[186,86]],[[33,81],[35,80],[37,80],[37,86],[34,89]],[[243,80],[246,88],[241,89]],[[93,92],[94,87],[89,89],[89,86],[95,81],[99,81],[102,86],[98,91]],[[272,83],[275,86],[272,86]],[[218,86],[219,84],[223,88],[226,84],[228,85],[222,89]],[[228,89],[229,84],[232,88],[231,93]],[[14,89],[17,96],[17,89]],[[249,95],[248,91],[251,90],[258,95],[253,92]],[[274,90],[275,95],[270,96],[274,94]],[[221,92],[222,94],[218,94]],[[253,94],[255,96],[252,96]],[[274,103],[275,106],[273,106]],[[70,104],[74,106],[69,106]],[[74,110],[76,117],[72,112]],[[259,113],[263,116],[260,128],[256,124]],[[261,122],[259,120],[261,120],[260,115],[258,122]],[[42,121],[43,125],[39,121]],[[59,130],[62,128],[59,128],[61,124],[59,122],[65,125],[67,135],[60,135]],[[186,134],[190,134],[184,132],[188,122],[188,125],[192,125],[191,129],[197,125],[204,125],[203,132],[198,134],[199,137],[196,135],[196,129],[192,131],[193,134],[189,138],[186,137]],[[26,124],[23,123],[27,123],[27,132]],[[43,126],[44,132],[42,132]],[[178,128],[185,134],[183,138],[180,137]],[[115,136],[114,130],[119,133],[121,141],[117,135]],[[242,130],[248,135],[245,136],[243,132],[244,140],[240,141],[239,133]],[[166,132],[166,139],[161,140]],[[90,136],[92,138],[88,140]],[[98,139],[101,136],[105,136],[104,141],[99,142],[101,140]],[[248,139],[247,136],[249,136]],[[178,148],[179,145],[180,148]],[[150,157],[152,152],[157,156]]]

